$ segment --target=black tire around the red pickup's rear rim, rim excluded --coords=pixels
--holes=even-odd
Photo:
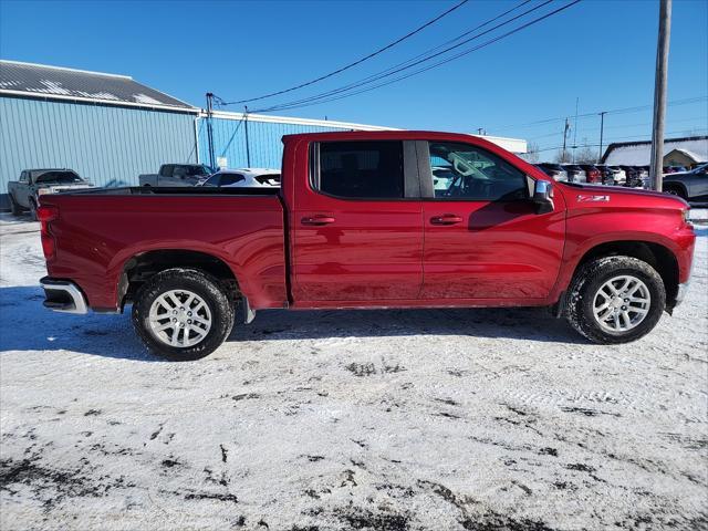
[[[211,327],[205,339],[192,346],[170,346],[150,327],[150,306],[158,296],[170,290],[188,290],[201,298],[209,309]],[[150,278],[135,294],[133,326],[143,343],[157,356],[171,361],[200,360],[216,351],[228,337],[233,327],[233,304],[214,277],[192,269],[168,269]]]

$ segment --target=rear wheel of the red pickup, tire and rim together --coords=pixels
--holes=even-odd
[[[190,269],[168,269],[138,290],[133,325],[158,356],[174,361],[208,356],[233,326],[233,305],[219,281]]]

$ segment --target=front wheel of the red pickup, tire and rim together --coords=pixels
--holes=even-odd
[[[665,306],[664,281],[652,266],[632,257],[605,257],[575,274],[566,315],[595,343],[628,343],[648,334]]]

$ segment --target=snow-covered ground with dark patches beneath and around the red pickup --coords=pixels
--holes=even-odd
[[[705,211],[696,211],[705,219]],[[708,227],[639,342],[543,310],[284,312],[156,361],[0,216],[0,528],[708,529]]]

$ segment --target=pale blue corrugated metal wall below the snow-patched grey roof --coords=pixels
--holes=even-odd
[[[196,160],[195,115],[0,97],[0,208],[28,168],[67,167],[98,186],[137,185],[165,162]]]

